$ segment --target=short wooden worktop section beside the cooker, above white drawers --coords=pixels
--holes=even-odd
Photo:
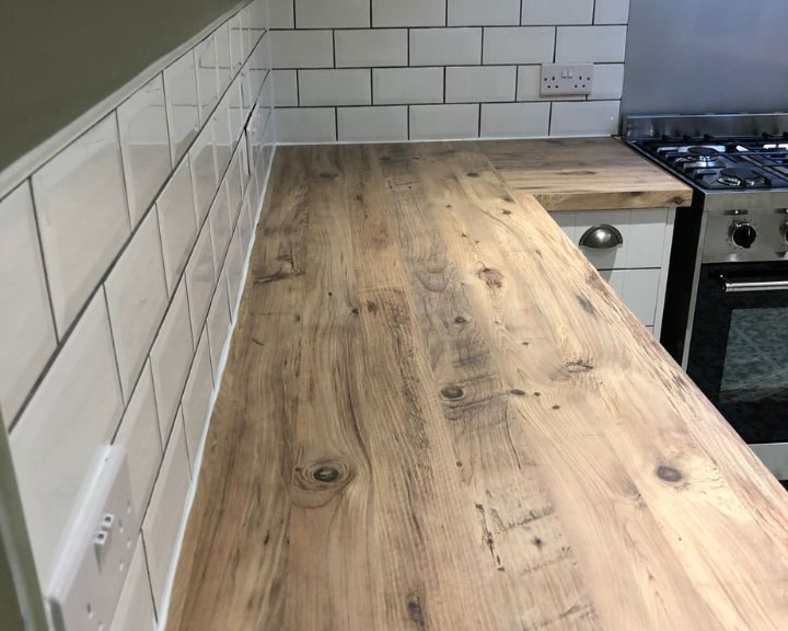
[[[692,188],[613,138],[478,144],[515,197],[547,210],[688,206]]]

